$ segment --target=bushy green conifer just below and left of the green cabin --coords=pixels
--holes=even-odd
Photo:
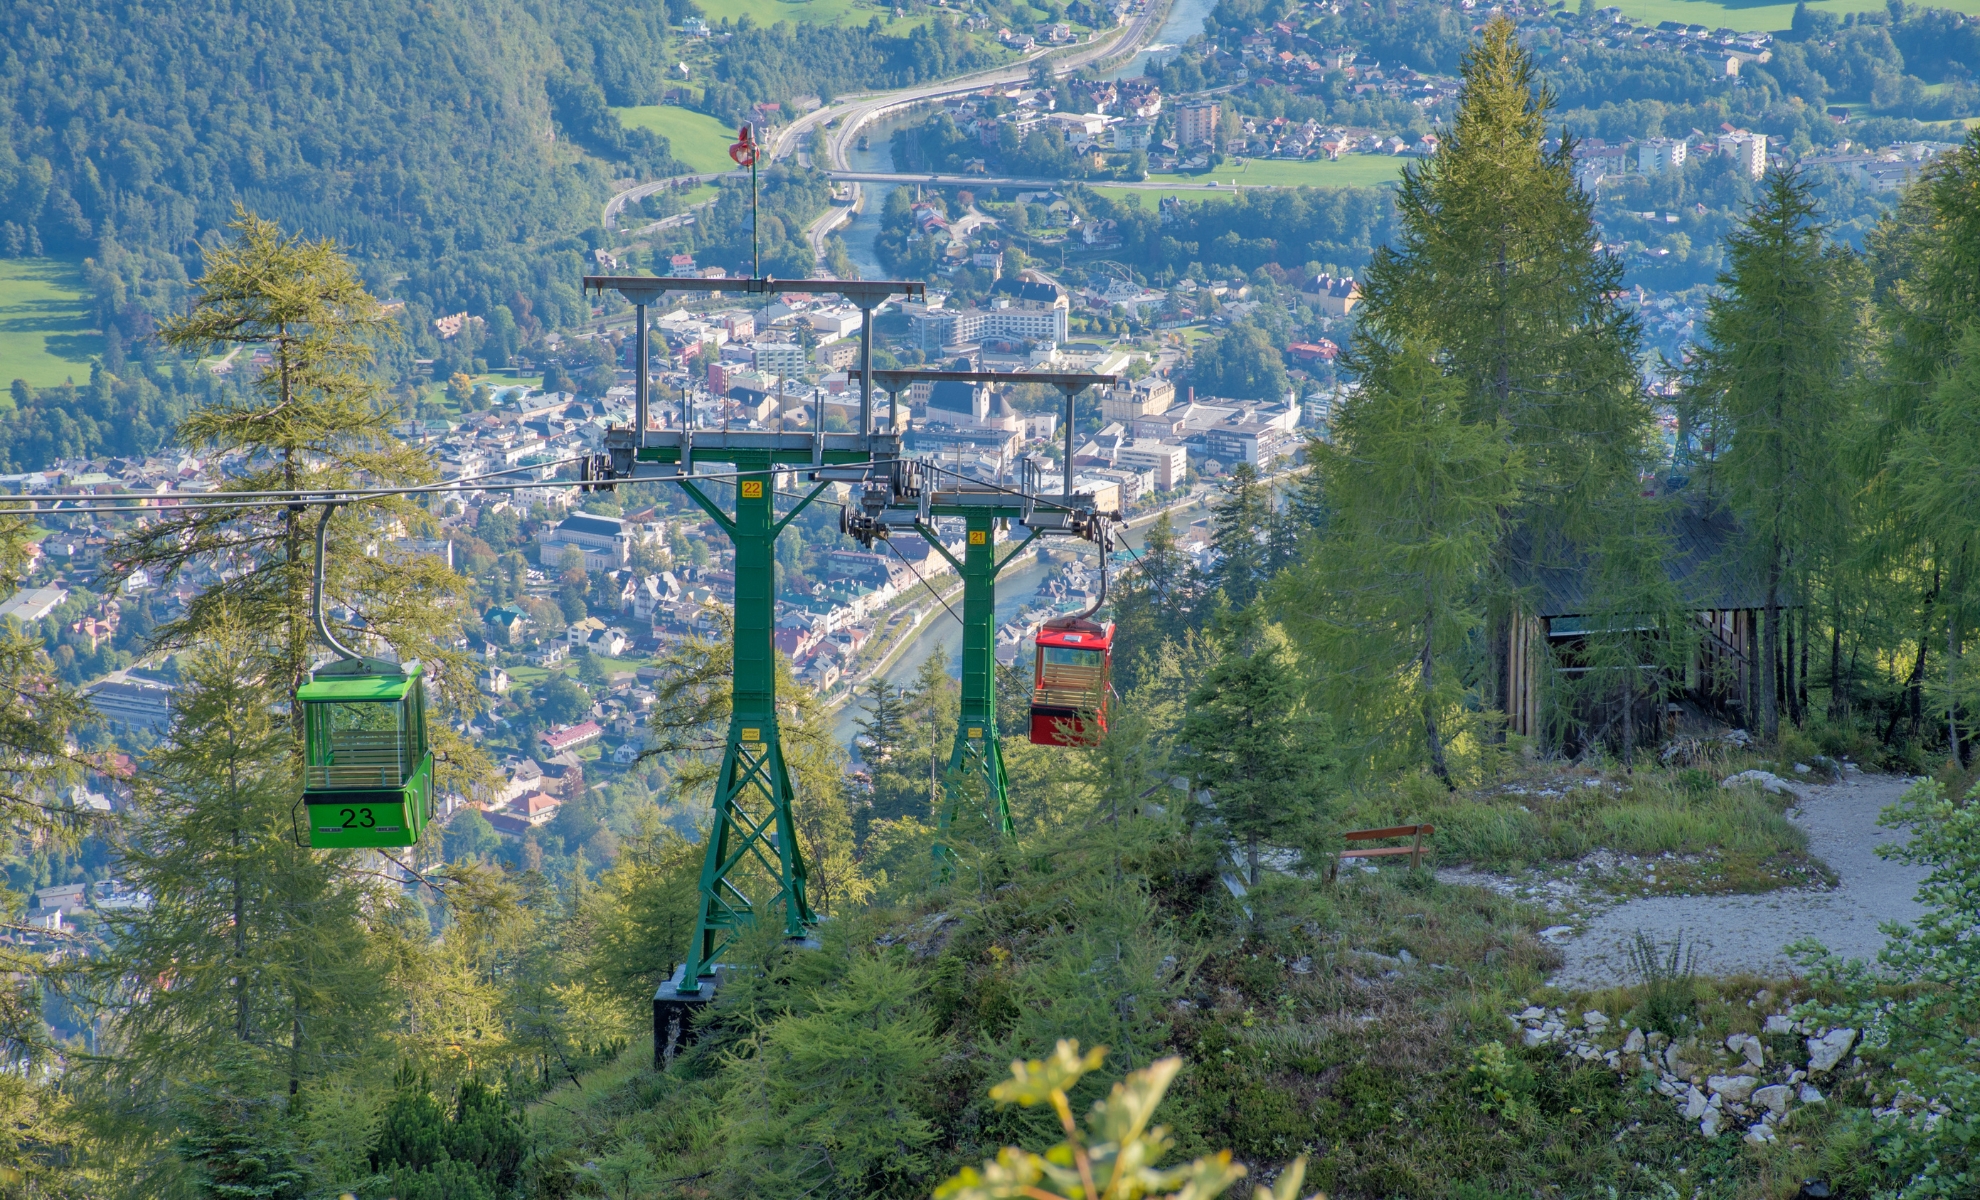
[[[139,1109],[222,1057],[295,1095],[372,1053],[394,998],[398,889],[297,838],[287,729],[249,661],[240,640],[190,655],[139,774],[123,871],[152,905],[115,917],[95,964],[117,1048],[101,1067]]]

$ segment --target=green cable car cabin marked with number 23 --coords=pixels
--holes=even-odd
[[[309,846],[412,846],[434,814],[434,754],[418,661],[339,659],[311,671],[303,705]]]

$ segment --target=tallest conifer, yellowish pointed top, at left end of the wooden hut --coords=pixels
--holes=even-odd
[[[1574,139],[1548,149],[1554,95],[1505,16],[1463,57],[1457,117],[1437,154],[1404,168],[1398,238],[1362,279],[1346,366],[1370,378],[1434,347],[1461,384],[1461,418],[1515,448],[1483,578],[1485,703],[1505,709],[1521,545],[1594,547],[1608,497],[1634,489],[1649,430],[1634,317],[1612,299],[1622,261],[1594,238]]]

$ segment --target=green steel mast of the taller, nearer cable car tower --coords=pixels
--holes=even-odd
[[[782,909],[790,939],[806,937],[818,921],[806,899],[808,871],[776,717],[776,535],[790,517],[776,517],[772,457],[768,450],[721,451],[721,461],[739,471],[733,515],[699,483],[681,479],[681,489],[723,527],[737,552],[735,703],[715,778],[695,935],[681,970],[683,996],[699,994],[723,950],[762,911]]]

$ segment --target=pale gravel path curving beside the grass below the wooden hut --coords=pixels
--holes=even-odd
[[[1897,830],[1877,824],[1911,780],[1887,774],[1849,776],[1833,786],[1798,788],[1804,802],[1788,818],[1808,830],[1808,850],[1830,863],[1841,883],[1832,891],[1770,891],[1764,895],[1659,895],[1622,903],[1594,917],[1560,943],[1568,960],[1554,974],[1562,988],[1604,988],[1634,982],[1624,947],[1641,929],[1659,945],[1679,935],[1699,947],[1703,974],[1786,974],[1782,947],[1814,937],[1849,958],[1871,958],[1885,937],[1881,921],[1915,921],[1913,899],[1923,867],[1877,857]]]

